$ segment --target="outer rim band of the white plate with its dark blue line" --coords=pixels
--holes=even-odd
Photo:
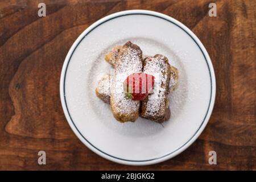
[[[158,18],[162,18],[165,20],[168,20],[171,23],[176,24],[178,27],[183,29],[191,38],[195,41],[197,46],[199,46],[201,52],[203,53],[205,60],[207,61],[208,69],[209,69],[209,74],[210,74],[210,80],[211,80],[211,96],[210,96],[210,101],[209,101],[209,106],[208,106],[208,111],[207,114],[204,117],[204,121],[201,123],[199,126],[199,129],[197,129],[196,133],[187,141],[185,142],[181,147],[177,148],[175,151],[172,151],[170,154],[161,156],[159,158],[155,159],[149,159],[149,160],[126,160],[126,159],[121,159],[112,155],[107,154],[104,151],[101,151],[97,147],[93,146],[92,143],[90,143],[85,137],[82,136],[80,131],[77,129],[75,126],[75,123],[73,123],[71,115],[69,114],[66,101],[65,101],[65,74],[67,73],[67,67],[69,60],[71,59],[73,52],[75,51],[76,47],[80,44],[82,39],[85,38],[87,34],[89,34],[90,31],[92,31],[94,28],[99,26],[102,23],[107,22],[108,20],[111,20],[113,18],[118,18],[119,16],[125,16],[125,15],[133,15],[133,14],[142,14],[142,15],[151,15],[155,16]],[[112,162],[120,163],[120,164],[127,164],[131,166],[144,166],[144,165],[150,165],[150,164],[155,164],[155,163],[160,163],[165,160],[171,159],[174,156],[180,154],[183,152],[185,149],[187,149],[195,140],[199,137],[199,135],[203,132],[205,129],[205,126],[207,125],[210,115],[212,114],[214,102],[215,102],[215,97],[216,97],[216,78],[214,74],[214,69],[212,65],[212,61],[210,60],[210,57],[208,55],[207,50],[197,38],[197,36],[188,28],[186,27],[183,23],[179,22],[178,20],[172,18],[171,16],[158,13],[156,11],[149,11],[149,10],[126,10],[126,11],[119,11],[114,14],[110,14],[108,16],[105,16],[104,18],[101,18],[100,20],[97,20],[95,23],[90,25],[86,30],[82,32],[82,34],[76,39],[76,41],[73,43],[72,47],[69,49],[67,56],[65,57],[63,67],[61,69],[61,76],[60,76],[60,100],[61,100],[61,106],[63,107],[64,115],[65,118],[67,119],[69,126],[73,130],[73,132],[76,134],[76,136],[81,140],[82,143],[85,144],[90,150],[95,152],[96,154],[102,156],[105,159],[111,160]]]

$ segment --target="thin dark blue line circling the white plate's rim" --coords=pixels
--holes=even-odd
[[[110,155],[110,154],[108,154],[108,153],[106,153],[106,152],[100,150],[99,148],[97,148],[96,146],[94,146],[92,143],[90,143],[89,140],[86,139],[86,138],[80,133],[79,129],[77,129],[75,123],[73,122],[73,119],[72,119],[72,117],[71,117],[71,114],[69,113],[69,110],[68,110],[68,105],[67,105],[67,101],[66,101],[66,97],[65,97],[65,78],[66,78],[66,73],[67,73],[67,70],[68,70],[69,61],[71,60],[71,57],[72,57],[73,53],[75,52],[77,46],[79,46],[79,44],[81,43],[81,41],[84,40],[84,38],[86,37],[86,35],[90,34],[90,32],[92,32],[95,28],[97,28],[97,27],[100,26],[101,24],[106,23],[106,22],[108,22],[109,20],[112,20],[112,19],[115,19],[115,18],[119,18],[119,17],[121,17],[121,16],[128,16],[128,15],[147,15],[147,16],[154,16],[154,17],[156,17],[156,18],[164,19],[164,20],[166,20],[166,21],[168,21],[168,22],[170,22],[170,23],[172,23],[172,24],[175,24],[177,27],[181,28],[181,30],[183,30],[184,32],[186,32],[186,33],[191,37],[191,39],[196,43],[197,47],[199,47],[200,51],[203,53],[204,59],[205,59],[205,61],[206,61],[206,63],[207,63],[207,67],[208,67],[208,70],[209,70],[209,75],[210,75],[210,101],[209,101],[207,113],[205,114],[204,120],[203,120],[203,122],[201,123],[201,125],[199,126],[199,129],[196,130],[195,134],[193,134],[193,136],[192,136],[187,142],[185,142],[182,146],[180,146],[180,147],[177,148],[176,150],[170,152],[169,154],[163,155],[163,156],[161,156],[161,157],[159,157],[159,158],[148,159],[148,160],[128,160],[128,159],[117,158],[117,157],[115,157],[115,156],[113,156],[113,155]],[[80,42],[79,42],[79,43],[76,45],[76,47],[73,49],[73,51],[72,51],[72,53],[71,53],[71,56],[69,57],[67,67],[66,67],[66,69],[65,69],[65,75],[64,75],[64,100],[65,100],[65,106],[66,106],[66,108],[67,108],[69,118],[71,119],[73,125],[75,126],[76,130],[79,132],[79,134],[81,135],[81,137],[84,138],[84,139],[86,140],[86,142],[88,142],[93,148],[95,148],[96,150],[102,152],[103,154],[108,155],[108,156],[110,156],[110,157],[112,157],[112,158],[115,158],[115,159],[119,159],[119,160],[126,161],[126,162],[149,162],[149,161],[152,161],[152,160],[161,159],[161,158],[164,158],[164,157],[166,157],[166,156],[168,156],[168,155],[173,154],[174,152],[176,152],[177,150],[179,150],[180,148],[182,148],[183,146],[185,146],[185,144],[187,144],[187,143],[197,134],[197,132],[200,130],[201,126],[202,126],[203,123],[205,122],[205,118],[206,118],[207,115],[208,115],[208,111],[209,111],[209,107],[210,107],[210,103],[211,103],[211,98],[212,98],[212,76],[211,76],[211,74],[210,74],[209,64],[208,64],[208,61],[207,61],[207,59],[206,59],[206,56],[205,56],[204,52],[202,51],[201,47],[200,47],[199,44],[196,42],[196,40],[193,39],[193,37],[192,37],[187,31],[185,31],[182,27],[180,27],[180,26],[179,26],[178,24],[176,24],[175,22],[172,22],[171,20],[168,20],[168,19],[166,19],[166,18],[157,16],[157,15],[152,15],[152,14],[147,14],[147,13],[131,13],[131,14],[123,14],[123,15],[115,16],[115,17],[113,17],[113,18],[110,18],[110,19],[105,20],[104,22],[101,22],[101,23],[98,24],[96,27],[92,28],[92,30],[90,30],[86,35],[84,35],[84,37],[80,40]]]

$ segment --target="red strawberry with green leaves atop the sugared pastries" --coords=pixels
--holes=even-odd
[[[154,88],[155,77],[146,73],[133,73],[123,81],[126,99],[142,101]]]

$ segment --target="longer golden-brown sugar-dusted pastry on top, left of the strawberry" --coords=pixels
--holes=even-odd
[[[119,122],[134,122],[139,117],[140,101],[127,100],[123,81],[132,73],[142,72],[142,51],[139,46],[127,42],[118,52],[114,63],[114,78],[110,94],[112,113]]]

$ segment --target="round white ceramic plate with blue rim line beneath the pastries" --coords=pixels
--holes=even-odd
[[[119,123],[96,97],[98,80],[110,71],[105,54],[128,40],[179,69],[171,118],[163,125],[142,118]],[[215,93],[213,66],[196,35],[170,16],[145,10],[115,13],[88,27],[69,50],[60,79],[61,104],[77,137],[96,154],[129,165],[163,162],[190,146],[207,125]]]

